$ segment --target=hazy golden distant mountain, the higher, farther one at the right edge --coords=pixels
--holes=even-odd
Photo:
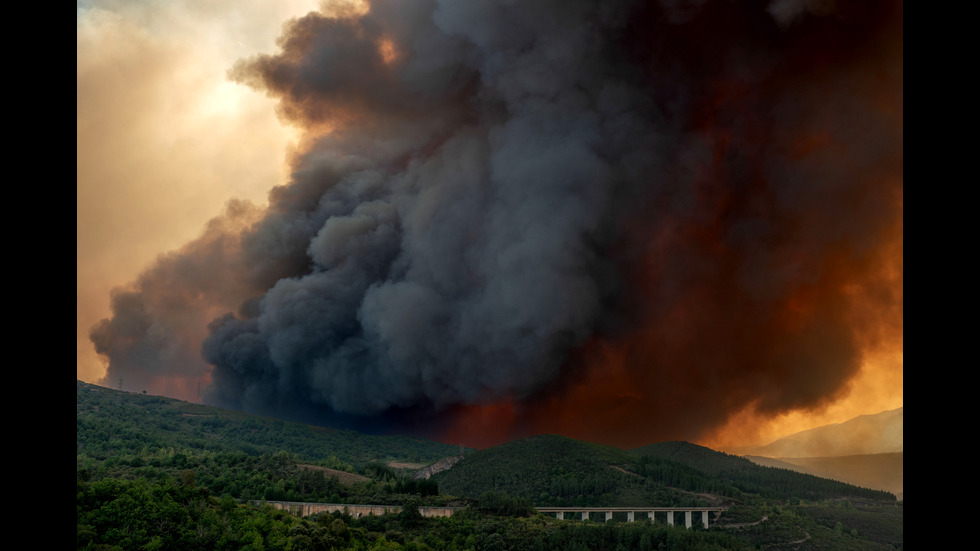
[[[762,457],[840,457],[904,451],[904,408],[791,434],[765,446],[732,449]]]

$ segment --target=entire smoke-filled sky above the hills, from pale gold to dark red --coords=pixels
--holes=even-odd
[[[485,447],[903,406],[900,2],[80,2],[78,379]]]

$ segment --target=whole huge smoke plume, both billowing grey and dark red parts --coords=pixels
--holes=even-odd
[[[644,396],[629,412],[681,407],[689,431],[834,395],[863,346],[847,293],[901,220],[900,121],[853,87],[901,82],[892,50],[864,72],[895,6],[733,4],[379,0],[289,22],[230,75],[319,137],[267,212],[117,297],[93,330],[109,377],[179,358],[220,405],[437,419],[562,396],[602,341]],[[900,279],[871,302],[900,312]],[[222,308],[203,344],[201,316],[181,325]]]

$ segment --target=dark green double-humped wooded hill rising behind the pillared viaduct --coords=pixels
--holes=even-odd
[[[433,478],[450,494],[475,498],[502,492],[539,506],[707,506],[748,496],[895,499],[887,492],[759,466],[689,442],[624,451],[554,435],[472,452]]]

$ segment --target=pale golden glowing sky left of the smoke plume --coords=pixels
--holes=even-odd
[[[271,100],[226,71],[274,48],[282,21],[315,8],[313,1],[78,8],[77,378],[97,382],[105,373],[88,332],[109,314],[113,287],[196,237],[229,199],[263,205],[285,182],[299,133],[279,121]],[[196,390],[181,395],[195,398]]]

